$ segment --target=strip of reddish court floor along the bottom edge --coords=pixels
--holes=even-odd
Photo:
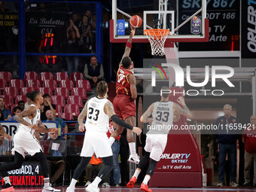
[[[67,187],[56,187],[58,189],[60,189],[62,192],[66,191]],[[36,191],[41,191],[42,187],[16,187],[15,188],[16,192],[36,192]],[[249,192],[256,192],[256,188],[239,188],[239,187],[203,187],[203,188],[151,188],[152,191],[154,192],[166,192],[166,191],[170,191],[170,192],[187,192],[187,191],[191,191],[191,192],[218,192],[218,191],[230,191],[230,192],[245,192],[245,191],[249,191]],[[79,192],[79,191],[85,191],[84,187],[76,187],[75,192]],[[133,188],[133,189],[129,189],[127,187],[108,187],[108,188],[101,188],[101,191],[120,191],[120,192],[139,192],[142,190],[139,190],[139,186]]]

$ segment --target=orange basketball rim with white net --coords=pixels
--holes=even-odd
[[[147,35],[151,43],[151,53],[155,56],[163,56],[166,37],[169,35],[169,29],[145,29],[144,35]]]

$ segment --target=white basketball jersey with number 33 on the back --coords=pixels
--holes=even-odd
[[[154,102],[153,122],[149,133],[169,133],[173,120],[173,102]]]

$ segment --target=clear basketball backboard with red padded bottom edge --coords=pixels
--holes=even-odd
[[[142,26],[136,29],[133,37],[135,43],[146,43],[145,29],[169,29],[170,42],[206,42],[209,41],[209,20],[206,19],[206,0],[158,0],[154,5],[147,1],[131,0],[130,5],[122,5],[123,1],[112,0],[112,20],[110,20],[111,43],[125,43],[130,35],[129,19],[133,15],[142,17]],[[145,3],[145,5],[136,5]],[[152,1],[148,1],[152,2]],[[197,6],[198,11],[190,11],[190,6]],[[182,11],[189,14],[181,14]]]

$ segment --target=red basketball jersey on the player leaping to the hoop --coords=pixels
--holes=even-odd
[[[124,69],[123,66],[120,66],[117,72],[117,81],[115,83],[115,90],[117,94],[132,95],[128,75],[133,75],[133,72],[129,69]]]

